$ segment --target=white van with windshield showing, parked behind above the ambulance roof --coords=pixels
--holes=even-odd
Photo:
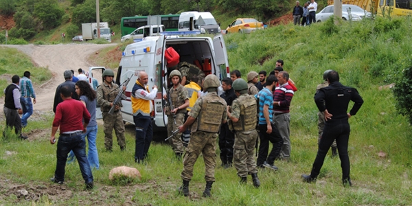
[[[179,16],[179,31],[200,30],[202,34],[220,33],[220,25],[210,12],[182,12]]]

